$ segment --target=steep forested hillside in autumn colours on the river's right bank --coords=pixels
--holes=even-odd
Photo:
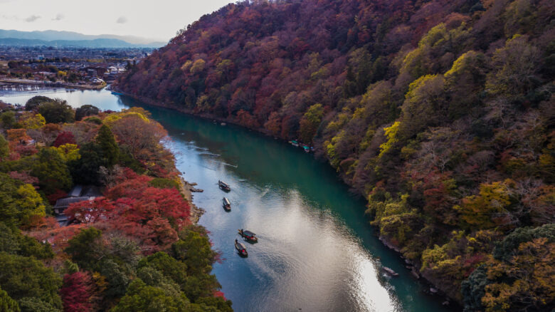
[[[554,17],[549,0],[245,1],[117,88],[314,144],[466,311],[550,311]]]

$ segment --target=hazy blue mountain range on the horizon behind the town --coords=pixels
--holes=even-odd
[[[0,46],[76,46],[82,48],[159,48],[166,43],[137,36],[85,35],[73,31],[0,29]]]

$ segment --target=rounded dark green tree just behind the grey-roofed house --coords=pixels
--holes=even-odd
[[[43,148],[31,165],[31,175],[38,178],[38,185],[46,194],[71,187],[71,175],[63,157],[54,148]]]

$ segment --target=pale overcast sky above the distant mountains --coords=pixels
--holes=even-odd
[[[132,35],[168,41],[230,0],[0,0],[0,29]]]

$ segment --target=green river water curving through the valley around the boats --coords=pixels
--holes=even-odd
[[[34,95],[120,110],[136,101],[107,90],[0,90],[0,100],[24,104]],[[168,130],[168,147],[184,178],[202,193],[194,203],[223,260],[213,266],[236,311],[453,311],[423,293],[404,262],[377,239],[364,200],[336,172],[300,148],[244,130],[152,106]],[[231,185],[228,194],[218,180]],[[228,197],[231,212],[223,210]],[[238,229],[259,237],[238,256]],[[398,272],[389,278],[388,266]]]

